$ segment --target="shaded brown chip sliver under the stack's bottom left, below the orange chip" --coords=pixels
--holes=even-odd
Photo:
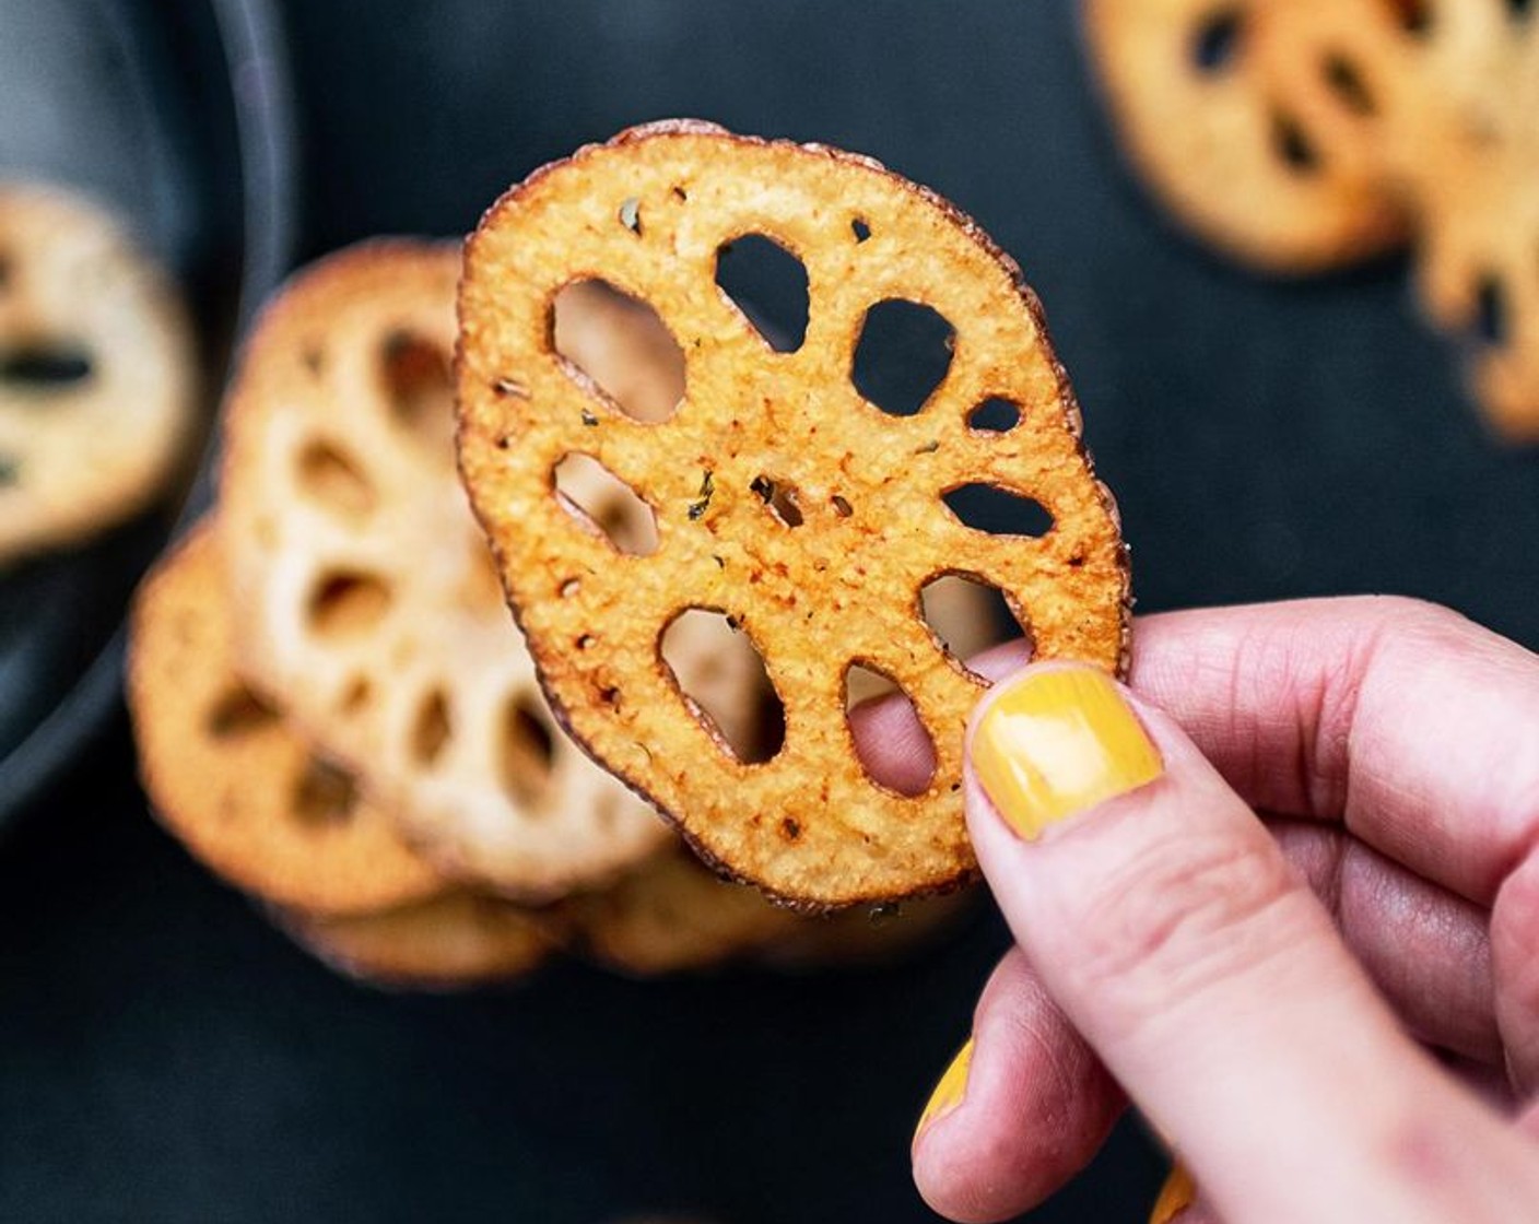
[[[279,911],[283,930],[339,973],[382,987],[454,990],[522,978],[556,947],[537,915],[451,891],[363,915]]]

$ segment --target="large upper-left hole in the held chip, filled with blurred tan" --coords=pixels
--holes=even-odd
[[[594,402],[577,408],[585,428],[619,408],[633,420],[668,420],[683,397],[683,353],[646,302],[606,280],[565,285],[551,302],[549,342],[566,376]]]

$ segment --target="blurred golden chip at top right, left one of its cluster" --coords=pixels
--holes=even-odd
[[[1280,273],[1405,239],[1376,145],[1380,42],[1399,0],[1087,0],[1128,157],[1187,225]]]

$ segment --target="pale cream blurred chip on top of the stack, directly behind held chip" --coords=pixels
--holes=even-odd
[[[454,245],[376,242],[269,306],[228,414],[228,567],[252,682],[440,870],[542,902],[668,830],[560,733],[503,607],[454,468],[457,277]]]

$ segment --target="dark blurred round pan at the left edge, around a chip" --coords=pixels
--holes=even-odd
[[[288,72],[266,0],[0,0],[0,176],[126,217],[186,289],[206,423],[231,345],[283,273],[294,225]],[[0,830],[112,708],[123,611],[200,485],[0,576]]]

